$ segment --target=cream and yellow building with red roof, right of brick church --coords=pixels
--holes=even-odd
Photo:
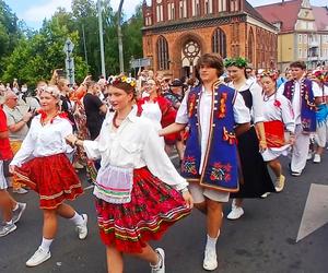
[[[278,66],[281,71],[294,60],[305,61],[311,69],[328,64],[328,8],[313,7],[308,0],[292,0],[256,10],[279,28]]]

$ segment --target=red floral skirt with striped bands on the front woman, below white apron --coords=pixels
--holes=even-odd
[[[102,241],[128,253],[140,253],[147,241],[161,239],[190,213],[181,194],[145,167],[133,171],[131,202],[110,204],[97,199],[96,211]]]

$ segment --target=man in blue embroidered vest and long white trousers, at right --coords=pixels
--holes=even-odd
[[[290,68],[293,80],[282,84],[278,93],[292,103],[296,129],[290,168],[292,176],[301,176],[306,165],[309,133],[316,131],[315,97],[320,95],[320,88],[315,82],[305,79],[306,66],[303,61],[292,62]]]

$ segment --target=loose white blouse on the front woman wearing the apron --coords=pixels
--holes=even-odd
[[[145,118],[137,117],[136,106],[116,131],[113,129],[113,117],[114,112],[107,115],[96,140],[83,142],[89,158],[101,158],[101,169],[108,166],[120,168],[147,166],[160,180],[177,190],[188,186],[165,153],[153,123]]]

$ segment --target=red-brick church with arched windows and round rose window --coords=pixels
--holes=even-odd
[[[144,0],[142,11],[143,56],[155,72],[191,75],[206,52],[276,67],[277,28],[245,0]]]

